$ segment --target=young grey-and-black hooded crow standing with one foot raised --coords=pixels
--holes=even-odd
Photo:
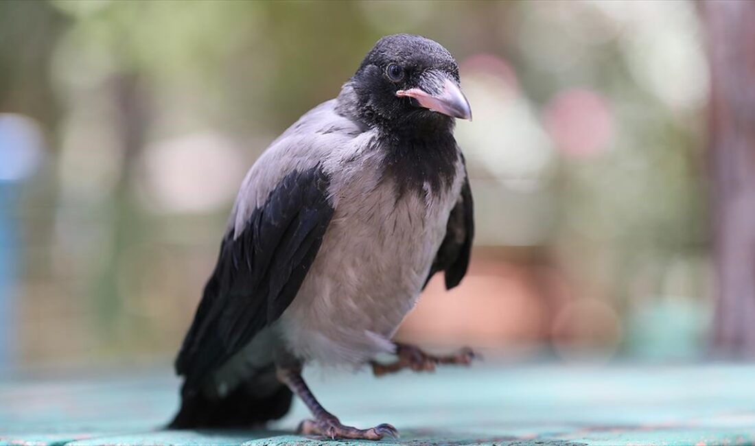
[[[344,426],[301,377],[305,364],[468,364],[391,341],[427,281],[467,272],[472,194],[453,136],[470,119],[451,54],[418,35],[381,38],[334,100],[302,116],[246,175],[175,367],[172,428],[254,426],[298,395],[307,435],[380,439]],[[381,364],[379,354],[396,355]]]

